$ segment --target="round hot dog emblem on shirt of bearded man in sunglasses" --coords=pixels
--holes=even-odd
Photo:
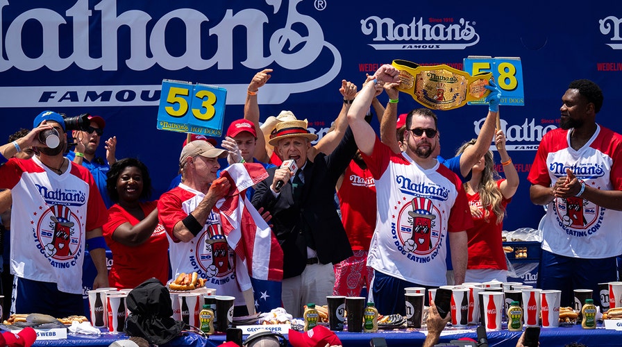
[[[394,210],[398,213],[392,214],[392,235],[398,251],[414,262],[434,259],[443,246],[444,226],[432,200],[416,197],[407,203],[403,197]]]

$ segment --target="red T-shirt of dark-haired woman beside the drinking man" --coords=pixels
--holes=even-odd
[[[149,201],[140,203],[140,207],[147,216],[157,204],[158,201]],[[164,226],[158,223],[151,237],[140,246],[126,246],[112,239],[112,232],[126,222],[135,226],[139,220],[121,206],[112,205],[108,210],[108,223],[103,226],[103,237],[106,238],[114,260],[108,274],[110,287],[131,289],[153,277],[166,285],[169,277],[169,241]]]

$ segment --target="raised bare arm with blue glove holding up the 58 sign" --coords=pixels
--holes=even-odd
[[[486,97],[486,101],[488,101],[488,115],[480,129],[476,143],[473,146],[469,146],[462,153],[460,158],[460,173],[462,177],[469,175],[473,165],[489,150],[490,143],[494,137],[496,119],[499,115],[501,90],[492,79],[489,81],[489,85],[486,85],[486,88],[490,90],[490,94]]]

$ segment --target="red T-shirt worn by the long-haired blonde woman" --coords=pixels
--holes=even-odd
[[[498,180],[497,187],[503,181]],[[469,198],[469,205],[475,205],[480,210],[482,209],[480,193],[473,195],[466,193],[466,196]],[[503,198],[501,200],[503,208],[511,200]],[[483,215],[477,219],[473,217],[473,228],[466,230],[466,235],[469,237],[469,262],[466,265],[466,269],[507,270],[501,240],[503,223],[497,224],[497,217],[491,208],[488,209],[488,213],[488,221],[484,219]]]

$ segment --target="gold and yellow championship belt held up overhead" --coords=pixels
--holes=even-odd
[[[490,92],[484,87],[492,76],[490,72],[471,76],[447,65],[421,66],[398,59],[392,65],[400,71],[397,89],[432,110],[459,108]]]

